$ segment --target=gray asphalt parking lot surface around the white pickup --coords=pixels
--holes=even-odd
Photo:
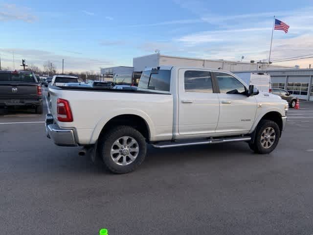
[[[140,168],[115,175],[48,140],[44,115],[2,115],[0,234],[311,235],[313,102],[288,116],[269,155],[245,142],[150,147]]]

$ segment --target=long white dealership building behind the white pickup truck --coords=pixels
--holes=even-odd
[[[117,66],[102,68],[101,76],[104,77],[104,80],[109,80],[109,77],[113,77],[119,73],[130,74],[130,76],[133,74],[139,75],[146,67],[156,68],[158,66],[168,65],[221,69],[233,72],[265,72],[271,76],[272,87],[285,89],[299,99],[313,101],[313,69],[297,69],[296,67],[268,65],[267,63],[208,60],[155,53],[135,57],[133,59],[133,67]]]

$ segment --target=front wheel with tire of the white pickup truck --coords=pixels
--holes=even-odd
[[[249,147],[256,153],[268,154],[276,148],[279,138],[280,130],[277,123],[271,120],[261,120],[254,142],[249,142]]]

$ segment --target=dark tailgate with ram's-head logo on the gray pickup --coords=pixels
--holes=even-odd
[[[0,82],[0,99],[38,99],[36,83]]]

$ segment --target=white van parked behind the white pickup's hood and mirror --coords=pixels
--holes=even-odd
[[[264,72],[233,72],[241,80],[243,80],[246,85],[254,85],[259,91],[271,92],[272,82],[270,75]]]

